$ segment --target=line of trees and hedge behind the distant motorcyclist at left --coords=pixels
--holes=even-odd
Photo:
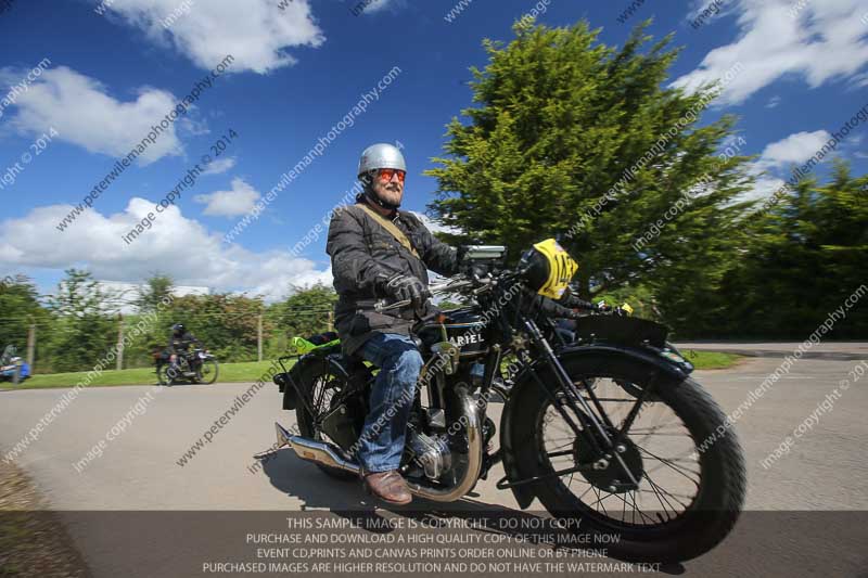
[[[273,359],[290,351],[292,336],[326,331],[336,298],[323,285],[296,287],[273,304],[230,293],[164,299],[174,293],[166,275],[152,277],[131,296],[106,290],[76,269],[46,296],[25,275],[7,278],[0,281],[0,347],[14,345],[25,356],[34,332],[38,373],[84,371],[118,343],[122,327],[138,326],[141,335],[124,348],[123,367],[148,367],[168,344],[171,326],[183,323],[220,361],[255,361],[261,324],[263,357]]]

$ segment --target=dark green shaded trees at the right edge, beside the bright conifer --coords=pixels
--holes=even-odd
[[[748,242],[711,297],[718,313],[694,318],[693,335],[803,339],[859,287],[831,335],[868,335],[868,175],[838,163],[828,182],[802,180],[744,227]]]

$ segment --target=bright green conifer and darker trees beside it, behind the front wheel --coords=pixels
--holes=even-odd
[[[750,127],[703,123],[720,84],[671,87],[679,51],[648,24],[621,48],[586,22],[484,42],[472,105],[426,171],[430,211],[458,231],[442,237],[503,244],[514,261],[554,236],[584,298],[629,300],[678,338],[804,338],[868,282],[868,176],[837,160],[764,205],[740,153]],[[855,304],[830,337],[866,335]]]

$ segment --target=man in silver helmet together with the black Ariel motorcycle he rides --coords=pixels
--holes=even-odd
[[[521,508],[538,500],[554,519],[580,522],[584,536],[617,537],[599,542],[617,544],[621,560],[689,560],[719,543],[744,501],[743,455],[667,329],[580,316],[576,309],[592,306],[566,292],[578,264],[554,239],[535,243],[514,266],[505,247],[461,253],[437,242],[398,210],[405,170],[393,146],[369,147],[358,170],[365,192],[332,217],[327,252],[345,355],[331,339],[281,358],[295,359],[275,383],[298,433],[276,424],[277,447],[329,475],[360,475],[371,493],[397,504],[411,494],[457,502],[500,463],[496,486],[511,489]],[[432,316],[426,269],[454,277],[444,290],[470,303]],[[623,311],[630,312],[626,304]],[[579,317],[571,338],[556,333],[557,319]],[[498,384],[509,358],[518,372],[509,365]],[[375,377],[361,359],[380,368]],[[417,381],[427,396],[416,397]],[[505,400],[497,451],[488,446],[498,428],[487,411],[493,394]],[[642,411],[652,403],[654,411]],[[654,438],[663,426],[679,429]]]

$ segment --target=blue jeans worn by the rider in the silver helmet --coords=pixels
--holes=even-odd
[[[371,391],[371,411],[358,442],[358,458],[367,472],[400,466],[407,420],[413,407],[422,355],[407,335],[379,333],[360,349],[380,373]]]

